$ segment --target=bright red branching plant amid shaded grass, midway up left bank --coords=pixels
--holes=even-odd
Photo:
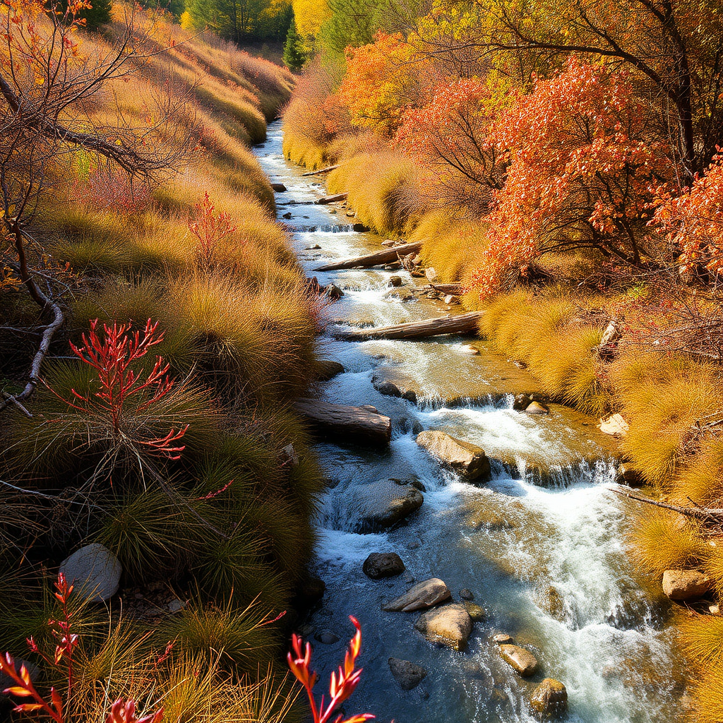
[[[97,331],[98,320],[90,322],[90,333],[82,335],[83,346],[70,343],[73,353],[85,364],[98,371],[100,390],[93,395],[84,396],[76,390],[72,393],[75,402],[67,401],[72,407],[87,414],[98,411],[108,415],[111,430],[116,439],[125,436],[124,411],[127,402],[133,399],[133,413],[142,414],[160,401],[171,391],[174,380],[168,376],[169,365],[157,356],[150,372],[144,373],[133,369],[133,365],[148,350],[163,341],[163,332],[158,331],[158,322],[153,324],[149,319],[145,330],[131,331],[130,324],[103,324],[104,334]],[[178,459],[177,453],[184,450],[184,445],[174,445],[187,432],[188,425],[178,429],[170,429],[164,437],[153,440],[133,440],[150,447],[155,453],[170,459]]]

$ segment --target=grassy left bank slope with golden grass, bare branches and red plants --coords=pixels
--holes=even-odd
[[[116,3],[95,32],[86,9],[2,11],[2,667],[58,723],[296,719],[320,475],[289,405],[321,306],[249,148],[293,77],[164,12]],[[98,545],[121,595],[54,591]]]

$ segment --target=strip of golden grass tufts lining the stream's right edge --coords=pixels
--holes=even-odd
[[[313,145],[309,134],[303,140]],[[416,268],[428,273],[433,269],[435,283],[469,288],[484,249],[484,224],[429,208],[418,168],[398,152],[365,150],[355,155],[358,145],[342,137],[299,155],[298,132],[292,129],[284,152],[292,160],[312,159],[309,168],[338,165],[316,177],[327,179],[329,194],[348,194],[338,213],[382,234],[381,240],[390,236],[421,242]],[[588,288],[579,281],[585,278],[585,263],[584,257],[553,256],[540,262],[536,278],[521,279],[517,288],[491,301],[480,301],[474,290],[453,294],[450,311],[483,310],[479,338],[524,367],[544,398],[596,418],[622,415],[629,427],[615,442],[617,455],[625,461],[628,479],[648,486],[647,495],[682,507],[690,500],[716,505],[720,445],[715,435],[696,432],[696,425],[719,408],[717,367],[694,356],[656,351],[649,344],[652,340],[643,334],[650,327],[641,322],[660,319],[664,312],[648,279],[627,287]],[[612,346],[601,349],[612,320],[622,338],[616,334]],[[719,619],[709,615],[720,586],[715,531],[695,519],[633,505],[622,534],[631,559],[653,585],[659,586],[669,569],[702,570],[708,580],[709,594],[690,601],[703,615],[694,614],[680,636],[693,669],[705,671],[702,681],[691,679],[698,700],[693,715],[712,720],[706,716],[719,685],[709,667],[710,656],[718,654],[714,638]]]

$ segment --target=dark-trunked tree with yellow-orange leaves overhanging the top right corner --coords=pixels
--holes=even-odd
[[[719,0],[476,0],[471,7],[435,0],[430,17],[426,52],[440,59],[471,55],[500,64],[511,57],[522,76],[525,67],[554,68],[573,53],[625,67],[654,98],[685,182],[716,153],[723,137]]]

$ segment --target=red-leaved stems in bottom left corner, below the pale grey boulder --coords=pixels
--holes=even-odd
[[[48,620],[48,625],[53,629],[53,634],[58,641],[55,647],[55,654],[51,658],[42,653],[33,638],[28,638],[27,645],[35,654],[38,654],[48,665],[58,667],[61,661],[66,665],[66,676],[68,679],[67,701],[73,687],[73,654],[78,645],[78,636],[72,633],[72,612],[68,607],[68,600],[73,591],[73,586],[69,585],[63,573],[60,573],[55,583],[56,599],[61,605],[60,620]],[[17,696],[18,698],[32,698],[33,702],[18,703],[14,707],[16,713],[42,713],[49,716],[55,723],[66,723],[63,698],[55,688],[50,689],[50,702],[46,701],[43,696],[35,690],[33,680],[30,678],[30,672],[23,663],[20,670],[17,669],[13,657],[9,653],[0,656],[0,672],[7,675],[14,685],[5,688],[2,692],[9,696]],[[106,717],[106,723],[160,723],[163,717],[163,709],[143,718],[137,718],[135,715],[135,702],[125,698],[118,698],[111,705],[111,712]]]

